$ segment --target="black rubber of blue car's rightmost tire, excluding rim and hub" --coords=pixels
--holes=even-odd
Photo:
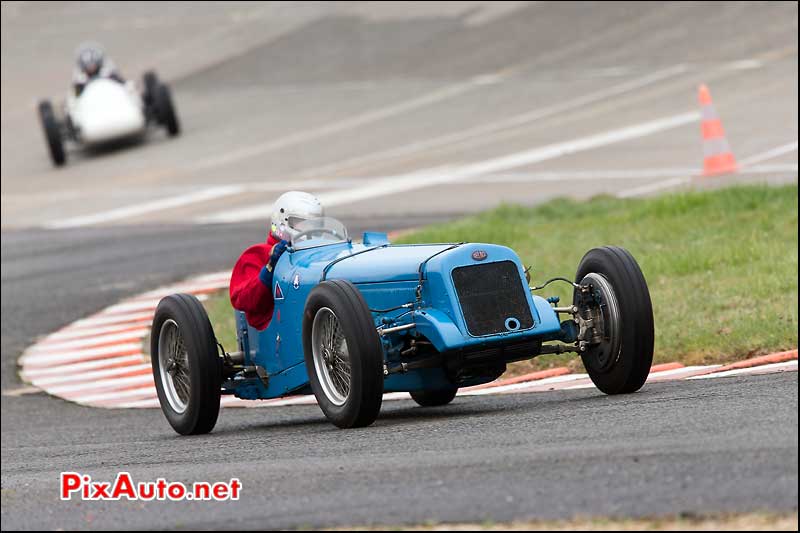
[[[633,256],[617,246],[594,248],[583,256],[575,282],[600,275],[613,290],[619,315],[618,338],[611,352],[589,348],[581,354],[592,382],[606,394],[636,392],[647,380],[653,363],[653,305],[647,281]],[[575,305],[578,293],[575,291]]]

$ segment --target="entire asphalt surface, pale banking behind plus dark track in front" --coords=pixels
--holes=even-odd
[[[353,229],[414,226],[501,200],[668,190],[699,166],[697,122],[517,158],[488,176],[341,200],[376,180],[397,187],[410,172],[439,176],[441,165],[468,175],[479,162],[692,112],[700,81],[737,156],[759,161],[736,179],[797,180],[794,3],[2,9],[4,393],[22,386],[16,358],[36,337],[121,297],[232,264],[263,238],[263,216],[249,221],[248,210],[258,213],[287,182],[327,194]],[[185,134],[99,157],[70,154],[54,171],[32,109],[63,91],[69,53],[87,28],[126,73],[155,66],[171,81]],[[231,185],[241,188],[147,210],[163,197]],[[131,206],[140,214],[107,216]],[[230,212],[242,222],[183,225]],[[81,219],[99,227],[38,228]],[[376,425],[347,432],[316,407],[227,410],[213,434],[190,439],[156,410],[4,394],[2,527],[796,511],[797,385],[788,373],[658,383],[624,398],[579,390],[463,398],[434,410],[391,402]],[[236,476],[244,491],[229,503],[61,502],[63,470],[96,480],[120,470],[189,483]]]

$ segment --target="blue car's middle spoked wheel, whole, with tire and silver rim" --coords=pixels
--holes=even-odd
[[[329,280],[311,291],[303,349],[311,389],[328,420],[340,428],[372,424],[383,399],[383,348],[355,285]]]

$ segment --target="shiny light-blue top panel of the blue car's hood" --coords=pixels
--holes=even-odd
[[[346,279],[353,283],[415,281],[419,266],[429,257],[452,244],[380,246],[346,255],[331,262],[327,279]]]

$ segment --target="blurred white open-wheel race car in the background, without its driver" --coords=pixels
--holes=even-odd
[[[40,102],[39,118],[53,164],[61,166],[66,161],[66,141],[98,146],[143,137],[151,126],[163,126],[171,137],[178,135],[180,124],[169,87],[153,72],[147,72],[143,81],[140,95],[132,81],[91,80],[80,96],[67,96],[63,119],[56,116],[49,100]]]

